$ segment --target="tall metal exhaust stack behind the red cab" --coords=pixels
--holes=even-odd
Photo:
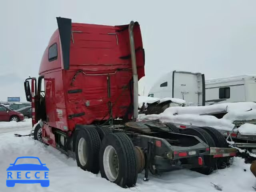
[[[134,46],[134,36],[133,36],[134,21],[129,24],[129,38],[130,38],[130,50],[131,50],[131,60],[132,60],[132,76],[133,76],[133,121],[138,118],[138,74],[136,65],[136,55]]]

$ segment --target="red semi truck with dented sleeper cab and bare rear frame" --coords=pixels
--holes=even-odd
[[[145,170],[191,168],[210,174],[236,151],[213,128],[183,134],[157,120],[136,122],[144,49],[138,22],[123,26],[57,18],[39,77],[24,82],[34,138],[76,158],[78,166],[121,187]]]

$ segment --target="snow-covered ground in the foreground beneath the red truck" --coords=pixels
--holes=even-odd
[[[224,192],[253,192],[252,186],[256,185],[250,164],[244,164],[243,159],[236,157],[232,166],[209,176],[190,170],[177,170],[160,176],[150,175],[149,182],[143,182],[144,175],[139,174],[136,187],[123,189],[101,178],[100,174],[83,171],[76,166],[75,160],[51,146],[45,146],[30,137],[14,137],[14,133],[29,134],[30,121],[0,122],[0,192],[216,192],[211,182],[221,186]],[[37,156],[46,164],[50,170],[48,188],[42,188],[40,184],[6,187],[6,168],[19,156]]]

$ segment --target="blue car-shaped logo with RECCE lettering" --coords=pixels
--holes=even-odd
[[[19,164],[21,160],[34,160],[36,164]],[[49,169],[38,157],[18,157],[6,171],[6,186],[8,187],[14,187],[16,183],[40,183],[42,187],[50,185]],[[24,176],[26,179],[22,179]]]

